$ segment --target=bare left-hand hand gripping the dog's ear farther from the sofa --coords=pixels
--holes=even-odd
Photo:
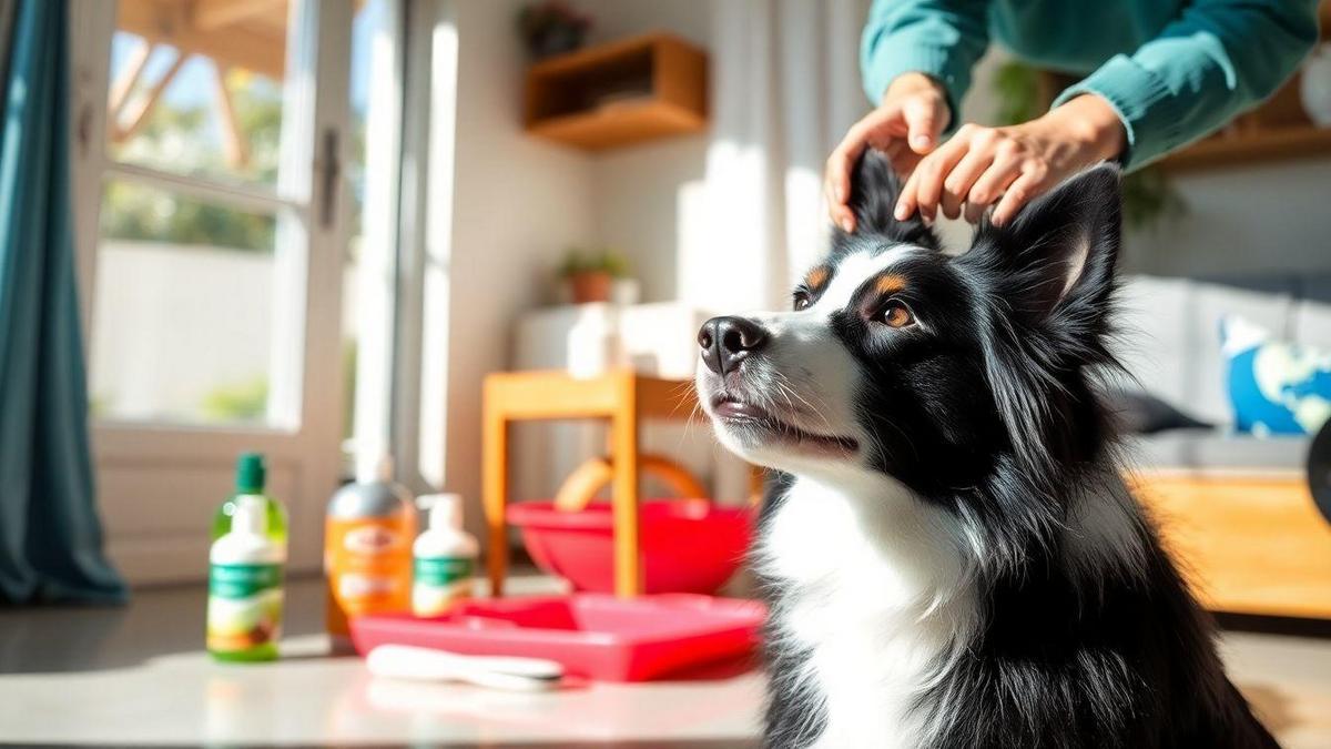
[[[938,81],[924,73],[897,76],[882,95],[882,104],[851,127],[828,157],[824,189],[832,221],[855,231],[851,200],[851,169],[865,148],[886,153],[900,175],[908,175],[938,145],[938,136],[952,120],[948,96]]]

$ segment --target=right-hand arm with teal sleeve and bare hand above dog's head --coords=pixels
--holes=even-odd
[[[1097,161],[1129,169],[1202,137],[1270,96],[1318,37],[1315,0],[1197,0],[1131,57],[1111,57],[1044,116],[1005,128],[965,125],[925,156],[896,215],[962,209],[1012,220],[1021,207]]]

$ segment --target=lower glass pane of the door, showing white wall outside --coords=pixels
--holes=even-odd
[[[96,417],[269,421],[276,231],[273,215],[106,183],[93,297]]]

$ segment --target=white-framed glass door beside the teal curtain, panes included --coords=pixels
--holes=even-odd
[[[293,568],[318,566],[343,462],[363,5],[73,3],[95,458],[108,552],[132,581],[202,574],[242,450],[268,456]]]

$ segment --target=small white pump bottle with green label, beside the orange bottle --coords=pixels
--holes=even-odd
[[[479,545],[462,529],[461,496],[426,494],[417,502],[430,520],[411,548],[411,610],[439,616],[471,597]]]

